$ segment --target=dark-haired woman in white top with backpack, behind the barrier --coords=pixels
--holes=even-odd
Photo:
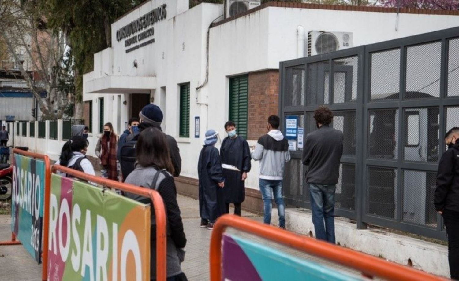
[[[88,151],[88,140],[81,136],[74,136],[62,146],[61,156],[56,164],[95,176],[94,167],[85,156],[86,151]],[[64,173],[60,174],[66,176]]]

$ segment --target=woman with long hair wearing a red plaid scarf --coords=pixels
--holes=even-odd
[[[118,181],[118,165],[116,159],[118,138],[113,131],[112,123],[104,125],[104,133],[95,146],[95,155],[101,160],[102,176]]]

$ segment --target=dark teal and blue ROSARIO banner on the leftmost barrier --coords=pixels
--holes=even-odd
[[[14,154],[12,193],[11,231],[40,263],[45,162]]]

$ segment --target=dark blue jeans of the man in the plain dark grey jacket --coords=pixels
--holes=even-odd
[[[336,186],[309,183],[308,188],[316,238],[335,244]]]

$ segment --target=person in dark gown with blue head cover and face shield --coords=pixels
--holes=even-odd
[[[199,155],[198,176],[199,176],[199,215],[201,216],[201,227],[212,230],[215,220],[225,212],[225,201],[223,194],[224,177],[217,143],[218,132],[208,130],[204,147]]]

